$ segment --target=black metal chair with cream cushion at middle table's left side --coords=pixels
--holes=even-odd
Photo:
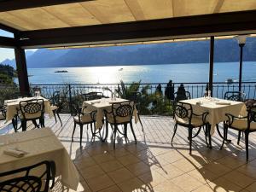
[[[72,133],[72,142],[73,142],[73,135],[76,130],[76,126],[80,126],[80,146],[82,146],[82,137],[83,137],[83,126],[84,125],[90,125],[90,129],[92,132],[92,135],[94,136],[94,133],[96,134],[96,131],[93,131],[93,125],[95,125],[95,113],[96,111],[88,112],[86,111],[86,108],[78,108],[76,110],[76,115],[73,117],[73,133]],[[88,126],[87,126],[88,129]]]

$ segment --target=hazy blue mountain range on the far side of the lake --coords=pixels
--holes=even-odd
[[[209,61],[209,41],[139,44],[83,49],[38,49],[26,51],[27,67],[89,67],[203,63]],[[235,39],[215,41],[214,61],[239,61]],[[247,38],[243,61],[256,61],[256,38]],[[3,61],[9,64],[14,61]],[[13,65],[11,65],[13,66]]]

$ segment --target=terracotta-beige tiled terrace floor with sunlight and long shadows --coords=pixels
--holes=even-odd
[[[108,143],[97,137],[93,141],[90,129],[87,131],[84,126],[83,147],[79,148],[79,129],[71,142],[73,118],[63,114],[61,119],[62,127],[54,119],[46,119],[46,126],[52,127],[79,170],[78,191],[256,191],[255,134],[249,138],[247,163],[244,138],[238,146],[236,131],[230,131],[232,143],[225,144],[222,150],[218,133],[212,137],[209,149],[201,131],[190,155],[185,128],[178,127],[172,146],[173,119],[143,116],[144,132],[141,125],[134,125],[137,145],[129,131],[129,141],[125,143],[118,137],[113,150],[111,134]],[[0,129],[0,134],[11,132],[11,127]]]

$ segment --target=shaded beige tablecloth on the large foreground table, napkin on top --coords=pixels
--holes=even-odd
[[[0,172],[31,166],[43,160],[54,160],[56,176],[61,176],[62,184],[77,189],[79,173],[66,148],[49,128],[3,135],[0,136],[0,143]],[[3,154],[3,150],[15,147],[28,154],[21,158]]]

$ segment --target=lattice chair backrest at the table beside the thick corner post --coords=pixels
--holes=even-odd
[[[37,119],[44,115],[44,100],[32,99],[20,102],[20,112],[24,119]]]

